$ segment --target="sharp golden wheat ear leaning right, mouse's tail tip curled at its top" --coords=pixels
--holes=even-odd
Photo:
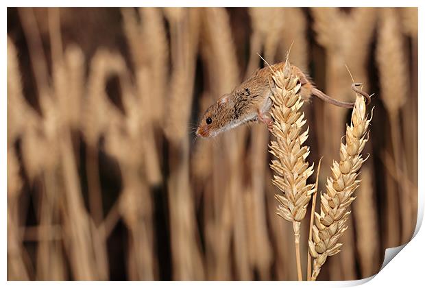
[[[316,280],[328,256],[337,254],[342,243],[339,237],[347,230],[345,223],[350,215],[350,204],[354,201],[354,191],[359,187],[356,180],[358,171],[365,162],[361,152],[367,142],[366,131],[369,122],[363,96],[357,95],[351,116],[351,124],[347,125],[345,144],[341,142],[339,163],[334,161],[332,176],[326,182],[326,193],[320,195],[320,214],[315,213],[313,225],[313,241],[308,241],[308,248],[313,261],[311,280]]]

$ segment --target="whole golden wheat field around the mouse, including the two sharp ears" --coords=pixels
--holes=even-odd
[[[411,239],[417,8],[7,13],[8,280],[356,280]],[[260,57],[354,108],[285,64],[271,132],[197,137]]]

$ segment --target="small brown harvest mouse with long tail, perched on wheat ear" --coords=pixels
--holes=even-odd
[[[272,119],[266,113],[269,111],[272,102],[269,97],[272,93],[270,88],[271,75],[274,71],[283,69],[284,65],[285,62],[280,62],[258,69],[249,79],[236,86],[231,93],[223,95],[204,112],[199,121],[196,135],[205,138],[215,137],[226,130],[258,120],[267,124],[270,130]],[[314,95],[336,106],[354,107],[354,103],[337,101],[315,88],[298,67],[291,65],[291,69],[299,78],[300,95],[304,101]],[[362,95],[364,94],[362,93]]]

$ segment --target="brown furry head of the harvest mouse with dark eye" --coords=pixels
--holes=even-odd
[[[218,99],[202,115],[196,130],[196,135],[204,138],[215,137],[220,132],[229,129],[232,122],[232,104],[230,95]]]

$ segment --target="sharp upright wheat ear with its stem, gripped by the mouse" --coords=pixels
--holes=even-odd
[[[277,141],[271,141],[269,147],[277,159],[271,161],[270,167],[275,171],[273,184],[283,192],[283,195],[275,195],[280,204],[277,214],[293,224],[298,280],[302,280],[300,225],[315,185],[306,184],[307,178],[313,174],[313,165],[308,167],[306,162],[310,148],[302,146],[308,137],[308,129],[300,134],[306,123],[304,113],[300,112],[304,103],[300,96],[301,84],[290,67],[287,60],[284,69],[273,75],[276,88],[271,95],[271,117],[274,120],[271,133]]]

